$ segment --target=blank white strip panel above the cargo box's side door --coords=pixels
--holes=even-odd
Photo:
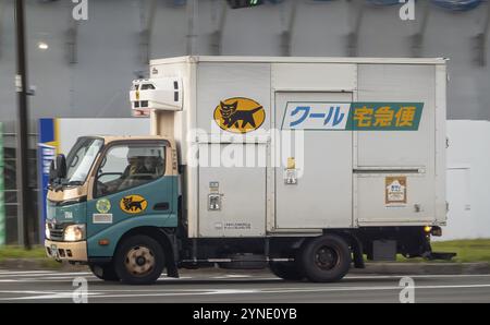
[[[354,91],[356,64],[273,63],[272,87],[284,91]]]

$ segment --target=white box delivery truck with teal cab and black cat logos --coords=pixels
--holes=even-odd
[[[365,254],[451,257],[430,246],[445,92],[445,59],[154,60],[131,91],[152,135],[81,137],[57,159],[47,252],[130,284],[211,264],[335,281]]]

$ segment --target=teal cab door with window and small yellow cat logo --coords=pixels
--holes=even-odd
[[[135,227],[176,227],[176,176],[167,142],[115,142],[98,160],[87,202],[89,253],[99,238],[115,241]],[[102,254],[105,255],[105,254]]]

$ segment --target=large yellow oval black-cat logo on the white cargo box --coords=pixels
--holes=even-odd
[[[244,134],[264,124],[266,110],[264,106],[249,98],[229,98],[222,100],[215,109],[215,121],[224,131]]]

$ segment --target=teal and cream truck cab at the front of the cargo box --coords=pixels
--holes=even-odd
[[[101,278],[115,279],[115,270],[107,262],[121,240],[139,238],[149,248],[140,245],[126,252],[132,256],[123,262],[127,276],[149,269],[161,273],[162,256],[168,256],[167,263],[172,261],[171,243],[177,227],[179,178],[173,146],[157,136],[78,139],[66,161],[58,159],[59,166],[66,166],[59,168],[64,174],[53,176],[50,184],[48,255],[86,262]],[[134,237],[136,233],[139,236]],[[167,266],[175,273],[174,264]]]

